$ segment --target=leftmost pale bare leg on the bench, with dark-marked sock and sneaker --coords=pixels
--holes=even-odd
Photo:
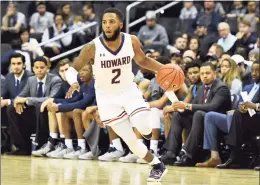
[[[49,120],[49,139],[39,150],[32,151],[33,156],[46,156],[47,153],[54,151],[55,145],[58,142],[58,123],[55,112],[48,112]]]

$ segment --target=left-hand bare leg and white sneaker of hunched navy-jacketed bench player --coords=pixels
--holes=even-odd
[[[71,139],[71,119],[73,119],[73,112],[61,113],[62,133],[65,136],[65,145],[62,150],[52,153],[52,158],[63,158],[67,153],[73,152],[73,144]]]

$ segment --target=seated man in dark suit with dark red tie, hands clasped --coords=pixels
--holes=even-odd
[[[194,166],[194,157],[198,151],[198,145],[203,139],[204,116],[206,112],[216,111],[225,113],[231,108],[231,95],[228,87],[220,79],[216,78],[216,68],[211,63],[202,64],[200,78],[203,85],[197,91],[196,97],[191,104],[175,102],[172,110],[184,109],[184,112],[174,112],[170,133],[165,141],[164,148],[167,149],[162,161],[173,164],[182,146],[182,130],[190,130],[190,134],[180,152],[180,161],[175,162],[177,166]]]

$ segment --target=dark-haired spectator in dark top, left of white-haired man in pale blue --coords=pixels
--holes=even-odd
[[[217,38],[215,35],[208,33],[208,29],[204,22],[199,22],[197,24],[194,33],[200,39],[200,56],[203,58],[207,55],[210,46],[217,41]]]

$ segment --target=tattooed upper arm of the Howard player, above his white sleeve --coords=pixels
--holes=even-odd
[[[80,51],[79,56],[74,60],[72,67],[79,71],[84,65],[94,64],[95,58],[95,43],[93,41],[86,44]]]

